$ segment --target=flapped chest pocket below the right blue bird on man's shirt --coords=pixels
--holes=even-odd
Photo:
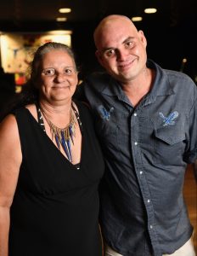
[[[186,147],[185,120],[180,115],[172,119],[159,114],[151,119],[154,125],[155,164],[178,165],[183,161]]]

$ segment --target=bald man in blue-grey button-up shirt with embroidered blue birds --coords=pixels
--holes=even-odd
[[[125,16],[94,32],[99,63],[79,86],[104,151],[100,224],[105,255],[194,256],[183,202],[187,163],[197,158],[197,89],[183,73],[147,60],[146,38]]]

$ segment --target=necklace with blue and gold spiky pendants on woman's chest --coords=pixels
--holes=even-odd
[[[38,122],[41,125],[42,130],[46,132],[42,115],[48,122],[50,131],[52,134],[52,140],[53,140],[53,138],[55,139],[55,143],[56,143],[57,147],[59,148],[59,150],[60,150],[60,146],[62,146],[68,160],[70,160],[70,162],[72,162],[71,143],[74,145],[74,137],[76,135],[76,133],[75,133],[76,120],[79,124],[80,131],[82,132],[82,122],[79,117],[79,114],[76,111],[76,108],[74,108],[73,104],[71,104],[70,122],[68,125],[65,126],[65,128],[59,128],[48,119],[48,117],[47,117],[46,113],[43,111],[43,109],[37,105]]]

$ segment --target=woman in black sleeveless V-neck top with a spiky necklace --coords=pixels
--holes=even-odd
[[[0,127],[0,256],[100,256],[104,162],[88,108],[72,101],[70,48],[38,48],[28,84],[29,103]]]

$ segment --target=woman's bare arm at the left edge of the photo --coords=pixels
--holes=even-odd
[[[9,208],[22,160],[20,137],[14,115],[0,124],[0,256],[8,256]]]

